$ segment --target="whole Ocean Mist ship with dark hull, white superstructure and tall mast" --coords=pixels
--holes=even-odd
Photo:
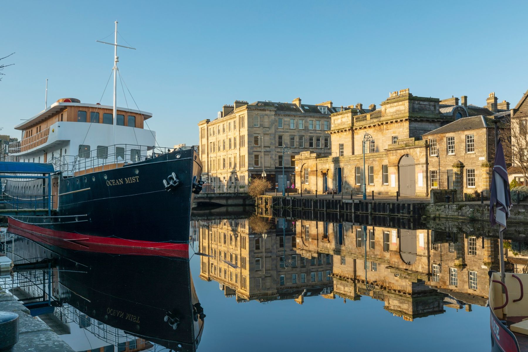
[[[117,22],[112,45],[113,106],[62,98],[47,107],[46,101],[45,110],[15,126],[22,133],[9,145],[15,169],[39,174],[45,165],[51,177],[7,179],[4,196],[17,205],[41,197],[52,212],[11,215],[9,231],[87,250],[187,253],[193,198],[203,184],[197,147],[160,147],[155,132],[144,128],[152,113],[117,107]]]

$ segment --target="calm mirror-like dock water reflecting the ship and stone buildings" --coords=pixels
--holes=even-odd
[[[195,216],[190,261],[22,237],[7,249],[18,262],[54,260],[52,297],[63,307],[41,318],[77,351],[490,349],[487,272],[499,264],[485,224],[297,215]],[[507,235],[508,271],[528,268],[523,232]],[[37,296],[42,278],[31,275],[0,285]]]

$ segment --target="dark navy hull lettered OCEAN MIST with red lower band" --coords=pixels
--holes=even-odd
[[[178,149],[119,168],[61,178],[54,216],[12,217],[10,232],[55,237],[85,249],[109,245],[185,250],[178,244],[188,242],[193,190],[201,172],[194,149]],[[179,184],[167,191],[163,180],[173,173]]]

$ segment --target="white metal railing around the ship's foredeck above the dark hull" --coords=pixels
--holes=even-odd
[[[55,170],[62,172],[63,176],[75,176],[137,163],[168,153],[173,149],[131,144],[100,146],[95,150],[81,147],[78,155],[53,156],[50,162]]]

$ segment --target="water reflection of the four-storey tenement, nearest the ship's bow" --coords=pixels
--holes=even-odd
[[[333,298],[332,256],[299,255],[292,223],[283,223],[256,216],[196,222],[205,254],[200,278],[219,282],[225,296],[239,302]]]

